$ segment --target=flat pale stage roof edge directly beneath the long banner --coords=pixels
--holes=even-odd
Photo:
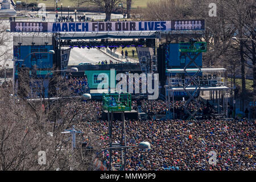
[[[60,32],[60,39],[155,39],[156,31]]]

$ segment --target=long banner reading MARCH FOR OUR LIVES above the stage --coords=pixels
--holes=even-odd
[[[204,20],[143,22],[11,22],[11,32],[200,31],[204,29]]]

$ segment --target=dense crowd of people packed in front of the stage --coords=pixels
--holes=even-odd
[[[147,108],[162,101],[142,101]],[[177,102],[182,103],[182,102]],[[158,105],[155,105],[158,106]],[[135,101],[133,105],[136,106]],[[162,102],[164,106],[164,102]],[[160,106],[156,110],[162,109]],[[81,104],[78,120],[79,129],[92,131],[101,147],[109,147],[108,121],[101,119],[102,102],[86,101]],[[148,119],[147,121],[126,121],[127,146],[146,141],[151,149],[127,149],[126,171],[171,170],[171,171],[226,171],[251,170],[255,163],[255,120],[247,119]],[[121,140],[122,122],[113,122],[113,143]],[[86,141],[91,144],[89,141]],[[216,164],[210,164],[210,151],[216,152]],[[108,167],[109,151],[99,158]],[[114,163],[121,162],[121,152],[113,151]],[[114,165],[117,167],[117,165]]]

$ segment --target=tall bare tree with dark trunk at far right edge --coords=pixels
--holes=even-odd
[[[245,98],[248,98],[246,96],[246,67],[254,67],[255,65],[255,40],[252,42],[246,40],[248,38],[255,39],[255,2],[227,0],[224,1],[222,5],[227,12],[226,22],[233,25],[234,30],[236,31],[236,34],[233,34],[233,36],[237,36],[238,38],[238,41],[233,43],[233,48],[240,53],[242,78],[241,109],[243,111],[245,104],[244,100]],[[254,65],[246,64],[246,59],[250,59]]]

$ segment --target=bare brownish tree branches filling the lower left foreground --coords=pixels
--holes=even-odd
[[[63,78],[53,76],[51,82],[57,89],[50,102],[27,99],[43,96],[43,89],[31,85],[38,81],[27,74],[27,69],[19,71],[19,89],[13,95],[12,83],[0,86],[0,169],[1,170],[87,170],[93,169],[93,160],[97,150],[98,134],[82,127],[81,113],[88,113],[88,107],[81,106],[80,98],[65,98],[72,94]],[[53,89],[56,90],[56,89]],[[52,92],[51,90],[50,92]],[[35,94],[33,96],[33,94]],[[94,114],[94,113],[93,113]],[[92,118],[95,121],[96,118]],[[72,151],[70,134],[61,134],[65,129],[76,129],[84,132],[77,136],[77,148]],[[84,138],[94,150],[86,152],[82,147]],[[38,152],[46,152],[46,165],[38,164]]]

